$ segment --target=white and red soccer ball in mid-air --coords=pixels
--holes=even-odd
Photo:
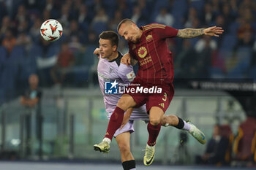
[[[48,42],[54,42],[62,35],[63,29],[58,20],[45,20],[40,28],[40,34]]]

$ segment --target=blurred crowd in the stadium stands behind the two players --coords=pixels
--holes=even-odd
[[[41,87],[86,87],[97,83],[101,31],[131,18],[138,26],[163,23],[174,28],[221,26],[217,38],[170,39],[176,78],[256,78],[256,1],[252,0],[1,0],[0,104],[20,95],[29,75]],[[64,34],[46,42],[44,20],[59,20]],[[127,52],[121,39],[119,50]]]

